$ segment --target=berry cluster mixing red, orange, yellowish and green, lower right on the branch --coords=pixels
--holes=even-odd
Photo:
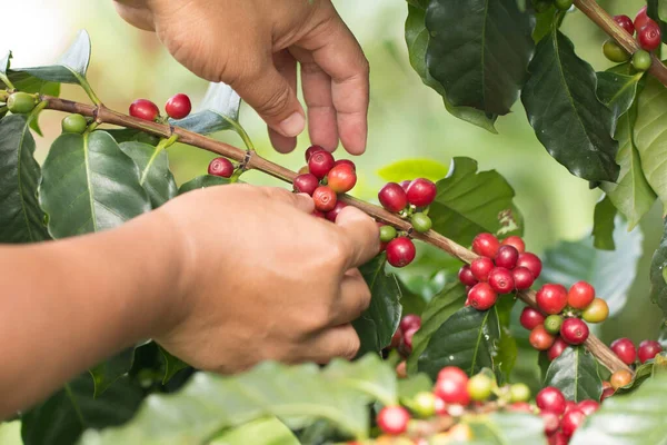
[[[596,298],[595,288],[586,281],[575,283],[569,290],[563,285],[546,284],[536,294],[537,309],[524,308],[521,326],[530,330],[534,348],[546,350],[550,360],[568,345],[581,345],[589,335],[585,323],[601,323],[609,307]],[[583,319],[581,319],[583,318]]]

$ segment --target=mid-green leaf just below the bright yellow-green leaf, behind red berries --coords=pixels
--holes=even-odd
[[[430,206],[434,230],[464,246],[482,231],[521,235],[522,217],[512,202],[515,191],[496,170],[477,172],[477,161],[452,159],[449,176],[437,184]]]

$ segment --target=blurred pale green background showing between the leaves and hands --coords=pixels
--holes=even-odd
[[[578,239],[590,233],[593,209],[600,192],[589,190],[587,181],[573,177],[546,152],[520,103],[511,115],[499,119],[499,135],[449,116],[439,96],[425,87],[409,66],[402,36],[407,14],[404,0],[334,2],[361,42],[371,66],[370,132],[367,154],[355,160],[360,171],[357,196],[374,199],[382,185],[377,171],[390,162],[428,158],[447,165],[454,156],[468,156],[479,161],[481,170],[497,169],[514,186],[531,250],[540,253],[558,240]],[[640,0],[600,3],[611,13],[631,17],[643,4]],[[123,22],[111,0],[13,1],[3,4],[3,16],[12,19],[0,27],[0,50],[12,49],[16,66],[54,60],[78,29],[88,29],[93,42],[89,80],[98,96],[113,109],[127,110],[139,97],[163,103],[176,92],[189,93],[197,103],[206,91],[207,83],[173,61],[152,33]],[[580,12],[568,14],[563,29],[575,41],[579,56],[596,69],[609,66],[600,51],[605,36]],[[62,96],[86,100],[71,86],[63,88]],[[40,159],[46,156],[48,141],[59,134],[60,119],[56,112],[42,116],[46,137],[38,140]],[[277,155],[269,145],[266,127],[249,107],[242,107],[241,122],[263,156],[292,169],[303,164],[302,151],[309,145],[307,135],[299,139],[296,152]],[[235,134],[218,137],[241,145]],[[183,146],[170,151],[179,184],[205,174],[213,157]],[[257,172],[249,172],[245,179],[277,185]],[[645,255],[630,290],[630,304],[620,317],[606,324],[607,340],[620,334],[635,340],[657,335],[660,317],[648,296],[648,265],[661,227],[660,208],[656,206],[640,227],[645,233]]]

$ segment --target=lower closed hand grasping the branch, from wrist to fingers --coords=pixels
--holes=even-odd
[[[185,278],[165,317],[176,322],[153,338],[197,368],[223,373],[265,359],[354,357],[350,322],[370,301],[357,266],[378,254],[378,228],[354,207],[336,224],[312,209],[307,196],[233,185],[156,210],[179,240]]]

